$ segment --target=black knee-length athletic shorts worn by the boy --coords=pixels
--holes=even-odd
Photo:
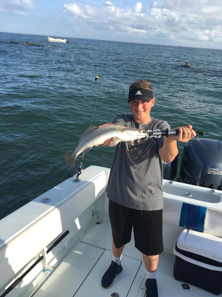
[[[135,247],[147,256],[163,252],[162,209],[138,210],[109,200],[109,219],[116,248],[130,242],[134,230]]]

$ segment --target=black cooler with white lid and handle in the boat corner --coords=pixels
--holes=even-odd
[[[222,238],[184,229],[174,247],[175,279],[203,288],[215,295],[222,292]]]

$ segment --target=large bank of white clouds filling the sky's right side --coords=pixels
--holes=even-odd
[[[14,0],[17,1],[17,0]],[[19,1],[19,0],[18,0]],[[28,0],[27,0],[28,1]],[[133,8],[120,8],[111,1],[103,6],[83,5],[77,2],[64,4],[61,9],[81,19],[91,32],[114,31],[145,38],[154,37],[175,41],[222,41],[221,0],[160,0],[150,1],[142,7],[136,2]],[[144,40],[145,41],[145,40]],[[147,39],[149,42],[149,39]]]

